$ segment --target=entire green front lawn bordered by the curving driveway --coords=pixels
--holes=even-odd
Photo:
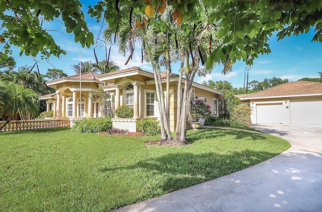
[[[227,175],[290,147],[235,130],[188,131],[191,145],[69,128],[0,133],[0,211],[106,211]]]

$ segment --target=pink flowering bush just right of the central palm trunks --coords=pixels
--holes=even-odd
[[[197,122],[199,119],[207,119],[211,115],[210,106],[205,104],[202,99],[195,97],[191,101],[190,115],[192,121]]]

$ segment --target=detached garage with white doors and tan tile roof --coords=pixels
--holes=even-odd
[[[241,98],[253,124],[322,124],[322,83],[296,81]]]

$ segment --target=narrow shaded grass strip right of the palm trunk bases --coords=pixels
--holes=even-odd
[[[252,140],[258,139],[267,139],[265,135],[245,132],[245,131],[237,131],[233,129],[198,129],[193,131],[188,131],[187,137],[190,143],[194,143],[199,139],[211,139],[216,137],[225,137],[225,136],[234,136],[234,139],[244,139],[245,137],[251,137]]]

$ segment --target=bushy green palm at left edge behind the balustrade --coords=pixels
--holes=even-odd
[[[0,84],[0,93],[0,114],[7,117],[7,122],[0,129],[6,126],[10,120],[24,120],[38,115],[38,95],[31,89],[24,89],[13,82],[7,85],[2,83]]]

